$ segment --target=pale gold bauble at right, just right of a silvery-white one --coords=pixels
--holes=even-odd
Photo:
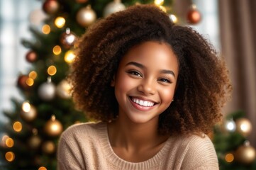
[[[250,132],[252,132],[252,124],[247,118],[238,118],[235,120],[235,124],[237,132],[239,132],[244,137],[247,137],[250,135]]]

